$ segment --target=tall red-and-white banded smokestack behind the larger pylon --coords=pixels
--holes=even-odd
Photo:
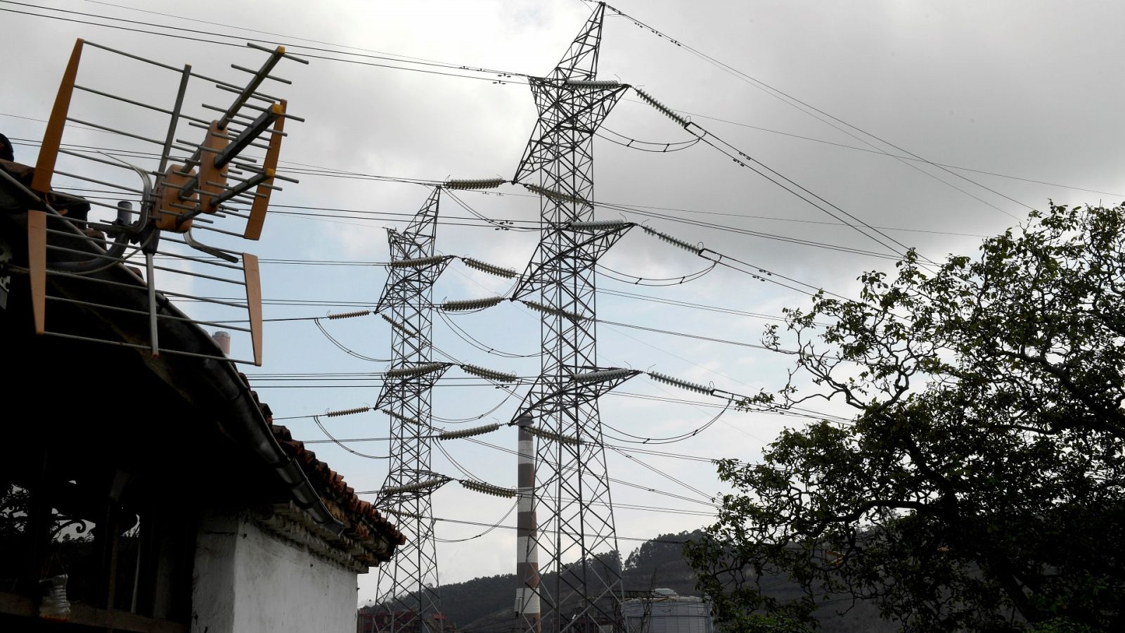
[[[536,531],[536,437],[528,433],[532,424],[531,416],[521,416],[516,420],[520,429],[520,463],[516,490],[519,496],[519,515],[516,517],[516,553],[515,553],[515,615],[523,617],[530,630],[539,633],[539,545]]]

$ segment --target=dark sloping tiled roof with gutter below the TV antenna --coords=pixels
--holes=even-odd
[[[8,169],[14,163],[0,164],[0,170],[11,175],[12,170]],[[21,196],[24,202],[16,202]],[[42,212],[25,211],[27,206],[34,207],[34,203],[28,204],[26,189],[21,190],[11,179],[0,179],[0,203],[4,203],[0,204],[0,238],[14,250],[11,264],[26,270],[27,215]],[[55,240],[69,239],[69,233],[82,234],[68,217],[57,214],[51,217],[51,226],[56,230],[50,233],[48,246]],[[71,239],[68,247],[93,256],[106,252],[90,240]],[[54,252],[57,251],[48,251]],[[48,268],[53,261],[51,257],[48,255]],[[140,399],[138,402],[161,409],[169,408],[168,401],[161,401],[161,398],[182,399],[190,403],[190,409],[172,408],[177,411],[182,409],[182,412],[176,413],[177,419],[198,428],[189,430],[187,436],[183,431],[162,430],[169,428],[165,426],[145,427],[146,431],[151,428],[152,433],[165,434],[162,438],[171,435],[197,436],[207,442],[225,437],[232,444],[219,454],[233,456],[249,453],[255,456],[253,460],[240,460],[237,472],[271,482],[266,488],[256,489],[253,499],[246,499],[251,503],[273,503],[267,511],[260,512],[259,523],[279,536],[308,545],[312,551],[359,572],[389,560],[395,549],[405,542],[402,533],[371,503],[356,496],[343,476],[317,460],[315,453],[302,443],[295,442],[288,429],[272,424],[269,407],[262,404],[258,394],[251,391],[245,375],[233,363],[223,359],[222,350],[210,335],[199,324],[190,322],[159,292],[156,310],[162,351],[174,346],[180,353],[163,353],[159,357],[137,354],[135,348],[143,349],[148,340],[148,320],[144,316],[148,309],[147,287],[145,280],[126,266],[112,264],[81,277],[47,275],[48,295],[57,293],[69,300],[50,304],[48,323],[72,326],[74,329],[69,335],[79,336],[70,338],[35,335],[30,323],[30,291],[26,274],[15,277],[9,305],[0,314],[3,316],[0,323],[3,324],[2,335],[10,344],[10,358],[30,368],[21,372],[25,375],[19,380],[32,383],[37,374],[51,375],[57,373],[58,367],[89,365],[99,367],[104,375],[112,375],[126,385],[152,384],[148,389],[126,391],[133,393],[134,400]],[[98,381],[91,381],[91,384],[94,383]],[[89,392],[89,395],[44,401],[40,405],[70,411],[76,407],[74,401],[106,396],[105,392],[82,382],[71,383],[69,389],[72,394]],[[160,391],[152,391],[154,389]],[[71,419],[71,416],[65,419]],[[88,426],[86,430],[99,433],[97,427]],[[101,433],[106,431],[108,429]],[[194,453],[179,451],[178,454]],[[278,500],[284,502],[277,503]],[[261,506],[255,508],[260,510]]]

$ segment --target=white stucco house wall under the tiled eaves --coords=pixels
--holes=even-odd
[[[356,572],[242,517],[209,517],[196,542],[192,633],[356,631]]]

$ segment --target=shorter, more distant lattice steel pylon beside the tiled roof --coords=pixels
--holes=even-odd
[[[390,469],[378,506],[397,516],[406,544],[379,569],[379,604],[390,608],[384,631],[440,627],[438,554],[430,492],[431,390],[449,367],[432,359],[431,289],[449,262],[434,256],[438,205],[434,188],[403,232],[388,230],[390,265],[376,311],[390,323],[392,365],[376,409],[390,418]],[[413,488],[413,489],[412,489]],[[428,617],[431,616],[431,617]]]

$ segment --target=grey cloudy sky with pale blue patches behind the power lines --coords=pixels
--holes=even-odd
[[[299,185],[287,184],[273,198],[276,213],[262,240],[240,247],[268,260],[268,319],[324,316],[378,298],[382,267],[324,262],[386,261],[385,229],[403,226],[407,215],[396,214],[413,213],[429,195],[422,185],[388,177],[511,178],[536,121],[519,74],[547,74],[592,10],[579,0],[320,2],[315,9],[307,2],[201,1],[188,14],[183,3],[163,0],[119,2],[0,1],[0,53],[8,60],[0,131],[16,141],[18,160],[34,162],[42,121],[75,37],[177,68],[190,63],[232,81],[242,78],[231,63],[256,66],[262,54],[220,43],[279,42],[307,56],[307,66],[278,68],[291,86],[263,88],[287,98],[289,112],[306,119],[287,126],[282,161],[291,171],[315,168],[320,173],[302,173]],[[888,244],[900,247],[842,224],[840,219],[848,220],[844,212],[937,259],[972,253],[982,237],[1017,224],[1048,199],[1125,199],[1118,193],[1125,191],[1120,3],[619,2],[616,9],[632,19],[608,11],[600,78],[642,88],[822,198],[818,205],[836,217],[705,144],[685,146],[690,134],[630,92],[595,141],[594,168],[594,197],[629,208],[600,208],[600,219],[644,222],[809,287],[847,295],[862,271],[893,266],[896,252]],[[82,72],[80,82],[119,87],[151,102],[169,104],[174,96],[174,81],[148,80],[105,55],[83,60]],[[89,107],[91,117],[124,116],[105,104]],[[199,132],[181,128],[179,134]],[[122,148],[119,139],[68,134],[73,136],[64,140],[73,143]],[[640,143],[614,143],[622,139]],[[652,143],[682,149],[637,149]],[[458,197],[476,213],[515,221],[516,228],[538,217],[537,198],[522,187]],[[441,214],[448,220],[439,228],[441,252],[522,270],[534,249],[537,232],[493,230],[448,198]],[[280,259],[299,262],[269,261]],[[664,285],[658,279],[702,271],[708,262],[640,231],[602,264],[598,287],[606,292],[598,297],[598,318],[633,326],[600,328],[602,365],[658,371],[739,393],[781,386],[788,360],[745,345],[757,344],[768,323],[749,313],[777,315],[785,306],[808,305],[807,295],[723,268]],[[645,280],[621,280],[629,276]],[[502,294],[507,286],[454,262],[434,288],[434,300]],[[505,353],[483,351],[438,319],[434,342],[451,356],[521,376],[538,372],[538,359],[511,357],[538,351],[534,313],[504,303],[451,320],[485,349]],[[381,319],[324,327],[359,355],[387,357]],[[235,357],[249,356],[249,341],[237,335],[234,347]],[[290,418],[284,424],[297,437],[320,440],[325,436],[309,416],[372,404],[378,378],[361,380],[361,374],[385,369],[386,363],[342,351],[313,321],[303,320],[269,323],[266,363],[248,373],[276,417]],[[294,380],[278,380],[282,374]],[[453,420],[477,417],[480,422],[462,424],[506,422],[526,389],[505,400],[504,392],[488,386],[458,386],[467,381],[456,369],[449,375],[452,380],[434,395],[435,424],[449,428],[458,424]],[[721,401],[644,376],[620,392],[602,400],[602,419],[615,437],[691,431],[721,410]],[[386,437],[388,426],[380,413],[326,424],[341,438]],[[755,460],[781,428],[800,424],[799,418],[727,411],[698,436],[652,448],[676,456],[611,452],[622,551],[639,544],[631,538],[708,523],[709,499],[722,488],[713,466],[684,457]],[[485,439],[515,446],[510,428]],[[387,445],[351,446],[380,456]],[[332,444],[315,449],[357,490],[377,489],[386,476],[386,460],[358,457]],[[511,454],[471,443],[448,443],[446,449],[451,460],[435,453],[435,472],[515,484]],[[436,524],[446,541],[485,531],[456,521],[514,525],[514,514],[502,519],[511,501],[456,483],[433,496],[433,507],[435,517],[453,519]],[[506,527],[442,542],[441,579],[512,572],[514,553],[514,532]],[[368,574],[360,581],[360,598],[374,595],[375,574]]]

